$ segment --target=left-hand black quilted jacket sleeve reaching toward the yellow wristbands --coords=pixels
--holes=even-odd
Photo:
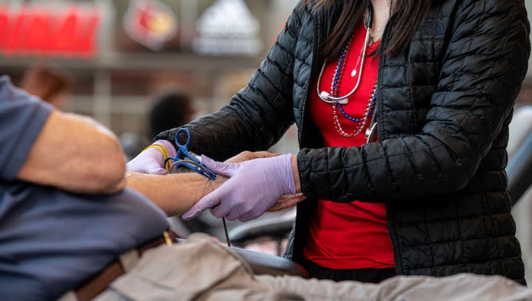
[[[300,20],[306,13],[306,8],[300,5],[288,18],[248,86],[237,92],[226,107],[185,125],[192,137],[191,151],[225,160],[241,151],[266,150],[294,123],[292,53]],[[167,139],[174,143],[177,130],[162,132],[154,140]]]

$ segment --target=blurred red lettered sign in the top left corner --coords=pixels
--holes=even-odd
[[[95,6],[0,6],[3,56],[95,55],[100,11]]]

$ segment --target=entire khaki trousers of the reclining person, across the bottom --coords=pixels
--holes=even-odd
[[[380,284],[253,276],[240,256],[209,236],[145,252],[96,300],[532,300],[499,276],[393,277]]]

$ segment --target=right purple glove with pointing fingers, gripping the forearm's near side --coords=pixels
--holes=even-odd
[[[191,219],[212,208],[215,217],[247,222],[263,215],[281,196],[295,194],[292,154],[240,163],[216,162],[204,155],[201,160],[215,173],[230,179],[203,196],[182,215],[183,219]]]

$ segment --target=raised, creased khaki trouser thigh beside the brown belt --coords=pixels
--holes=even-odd
[[[260,284],[240,256],[210,236],[193,234],[144,252],[96,300],[303,300],[293,297]]]

